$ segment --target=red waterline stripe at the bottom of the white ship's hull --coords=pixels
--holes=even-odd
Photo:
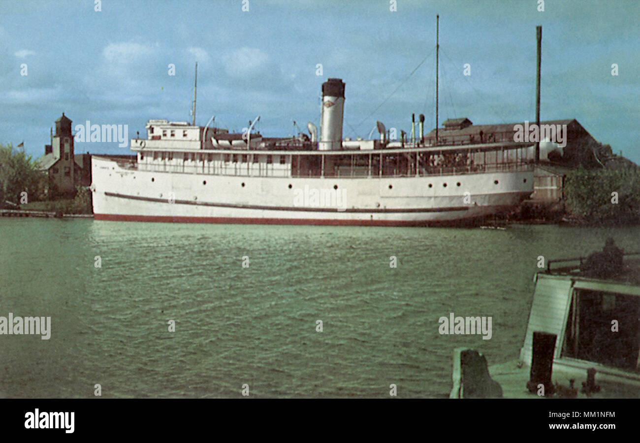
[[[95,220],[159,221],[164,223],[227,223],[248,225],[345,225],[345,226],[467,226],[480,219],[465,220],[331,220],[322,218],[248,218],[248,217],[186,217],[171,215],[94,214]]]

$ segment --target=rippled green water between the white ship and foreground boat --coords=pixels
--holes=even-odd
[[[453,348],[518,357],[539,255],[639,233],[1,218],[0,316],[51,316],[51,339],[0,335],[0,397],[441,396]],[[492,338],[440,335],[450,312]]]

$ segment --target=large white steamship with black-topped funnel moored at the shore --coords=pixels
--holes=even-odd
[[[424,115],[412,115],[411,136],[378,121],[366,140],[343,138],[339,78],[322,85],[319,131],[309,122],[289,138],[253,132],[259,116],[242,133],[210,126],[214,117],[196,125],[196,87],[197,64],[190,124],[148,120],[131,140],[135,160],[92,157],[95,220],[472,225],[534,190],[531,143],[426,140]],[[436,86],[436,129],[437,97]]]

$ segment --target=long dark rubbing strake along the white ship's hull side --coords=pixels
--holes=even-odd
[[[113,192],[105,192],[108,197],[128,198],[129,200],[142,200],[144,202],[157,202],[170,204],[168,198],[140,197],[136,195],[124,195]],[[301,211],[312,213],[448,213],[451,211],[468,211],[467,206],[449,206],[449,207],[407,207],[407,208],[345,208],[344,211],[338,211],[337,207],[299,207],[299,206],[264,206],[264,205],[240,205],[230,203],[209,203],[196,202],[191,200],[173,200],[173,204],[181,205],[198,205],[198,206],[217,206],[217,207],[235,207],[239,209],[259,209],[261,211]]]

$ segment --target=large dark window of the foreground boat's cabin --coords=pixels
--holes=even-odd
[[[640,297],[575,289],[562,357],[640,373]]]

